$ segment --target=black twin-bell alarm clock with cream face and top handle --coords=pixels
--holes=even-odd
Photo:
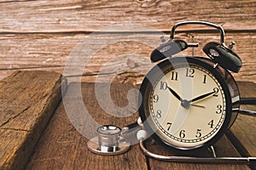
[[[174,38],[183,25],[212,26],[220,42],[208,42],[207,57],[173,56],[198,47]],[[155,48],[155,65],[140,88],[139,116],[146,131],[160,143],[177,150],[195,150],[215,144],[232,126],[240,109],[240,94],[230,74],[241,68],[241,59],[224,42],[221,26],[205,21],[186,21],[172,27],[170,40]]]

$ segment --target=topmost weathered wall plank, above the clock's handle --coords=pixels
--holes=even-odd
[[[255,30],[256,18],[253,0],[40,0],[0,4],[1,32],[96,31],[127,23],[170,31],[178,21],[188,19],[212,21],[230,30]]]

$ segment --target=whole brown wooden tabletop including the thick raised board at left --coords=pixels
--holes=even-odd
[[[137,121],[139,85],[114,81],[111,86],[107,82],[70,82],[67,87],[67,79],[62,77],[61,81],[61,74],[52,71],[15,71],[0,81],[0,85],[0,169],[255,168],[252,162],[248,165],[246,162],[157,161],[140,150],[136,132],[126,134],[133,145],[123,155],[99,156],[90,152],[87,142],[96,136],[99,125],[125,127]],[[256,96],[255,83],[238,85],[241,97]],[[107,105],[102,107],[102,104]],[[256,111],[256,105],[241,108]],[[255,122],[256,117],[239,115],[230,130],[214,144],[217,156],[256,156]],[[146,145],[158,154],[184,154],[150,138]],[[190,156],[212,155],[207,150],[197,150]]]

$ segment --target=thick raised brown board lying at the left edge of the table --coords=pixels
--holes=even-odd
[[[15,71],[0,87],[0,169],[22,169],[61,99],[61,74]]]

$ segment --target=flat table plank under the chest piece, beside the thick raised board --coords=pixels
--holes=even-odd
[[[84,133],[81,133],[81,129],[91,135],[95,135],[96,129],[84,119],[85,115],[77,116],[82,111],[79,105],[74,105],[74,103],[79,104],[80,102],[77,94],[78,88],[79,83],[69,85],[64,99],[65,106],[61,102],[55,111],[55,115],[39,140],[26,169],[146,169],[146,159],[139,151],[138,145],[132,146],[131,150],[119,156],[98,156],[88,150],[86,144],[88,139]],[[111,96],[115,105],[119,105],[119,107],[126,105],[126,94],[131,88],[133,88],[131,85],[113,84]],[[137,114],[118,117],[103,111],[96,100],[94,83],[82,83],[81,89],[86,109],[94,121],[99,124],[124,127],[137,120]],[[105,93],[103,90],[102,99],[105,99]],[[137,104],[137,95],[132,95],[132,100],[134,104]],[[67,110],[67,108],[71,108],[71,110]],[[113,109],[110,108],[110,110]],[[73,116],[77,116],[76,120],[73,120],[72,113],[74,113]],[[79,122],[79,120],[84,120],[84,122]],[[79,129],[75,128],[78,127],[78,124],[74,124],[75,121],[82,124]]]

